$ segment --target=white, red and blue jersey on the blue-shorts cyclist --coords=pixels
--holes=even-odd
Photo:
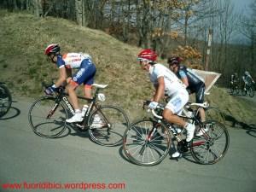
[[[57,57],[57,66],[67,68],[79,68],[84,59],[91,61],[91,56],[85,53],[67,53]]]

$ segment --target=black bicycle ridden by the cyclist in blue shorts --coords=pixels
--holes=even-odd
[[[99,90],[108,84],[92,84],[96,87],[92,99],[79,96],[79,99],[88,100],[90,106],[80,123],[73,123],[83,131],[89,131],[91,139],[100,145],[115,146],[122,143],[123,133],[129,125],[126,113],[112,105],[101,105],[97,102]],[[65,87],[61,87],[55,96],[43,96],[32,103],[28,113],[28,120],[32,131],[40,137],[58,137],[67,129],[67,112],[74,114],[70,102],[67,100]],[[93,125],[95,115],[100,115],[101,125]]]

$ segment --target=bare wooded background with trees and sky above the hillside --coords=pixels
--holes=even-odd
[[[256,79],[256,0],[242,15],[230,0],[2,0],[0,8],[74,20],[197,68],[208,61],[207,70],[222,73],[220,84],[246,70]]]

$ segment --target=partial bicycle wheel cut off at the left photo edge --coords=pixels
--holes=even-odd
[[[3,115],[9,112],[11,105],[12,96],[9,89],[4,85],[3,82],[0,82],[0,117],[3,117]]]

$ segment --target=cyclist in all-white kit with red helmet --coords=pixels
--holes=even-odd
[[[156,58],[157,55],[152,49],[143,49],[137,56],[143,70],[148,71],[150,81],[154,84],[156,90],[148,107],[156,108],[160,99],[165,95],[168,96],[170,100],[164,109],[163,118],[172,124],[185,128],[187,130],[186,141],[190,142],[194,137],[195,125],[189,124],[177,116],[189,101],[189,93],[185,85],[177,79],[172,71],[162,64],[155,63]],[[172,154],[172,157],[178,155],[178,153],[175,153]]]

